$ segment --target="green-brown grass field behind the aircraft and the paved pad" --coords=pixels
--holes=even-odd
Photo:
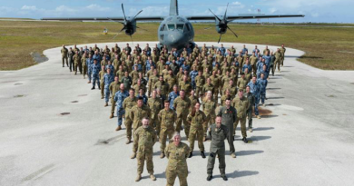
[[[139,23],[148,30],[133,34],[134,41],[157,41],[158,23]],[[336,24],[340,25],[340,24]],[[219,34],[214,29],[204,30],[211,24],[193,24],[194,41],[216,42]],[[354,28],[329,26],[279,26],[255,24],[230,24],[239,38],[231,32],[222,35],[221,42],[244,44],[285,44],[306,54],[300,61],[326,70],[354,70]],[[104,35],[103,28],[110,34]],[[0,21],[0,70],[17,70],[34,65],[30,53],[42,54],[45,49],[62,44],[89,44],[130,41],[121,34],[113,35],[122,28],[117,23],[93,22],[28,22]],[[249,49],[253,45],[248,46]]]

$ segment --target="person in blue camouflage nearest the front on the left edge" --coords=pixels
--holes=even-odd
[[[114,103],[117,106],[117,116],[118,116],[118,127],[115,129],[115,131],[122,130],[123,115],[125,113],[125,108],[123,107],[123,103],[124,103],[125,98],[127,98],[129,96],[129,93],[124,90],[123,83],[121,83],[119,87],[120,87],[120,90],[114,94]],[[125,104],[127,104],[127,103],[125,103]],[[125,107],[127,107],[127,105],[125,105]],[[125,126],[127,125],[126,122],[127,122],[127,118],[125,118]],[[128,133],[128,127],[127,127],[127,133]]]

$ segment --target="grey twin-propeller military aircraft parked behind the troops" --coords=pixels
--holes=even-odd
[[[228,4],[229,5],[229,4]],[[228,6],[227,6],[228,7]],[[234,20],[241,19],[261,19],[261,18],[282,18],[282,17],[304,17],[305,15],[230,15],[227,16],[227,7],[224,15],[211,15],[206,16],[182,16],[178,12],[178,0],[171,0],[170,15],[162,16],[138,16],[143,12],[141,10],[133,17],[125,16],[124,7],[122,4],[123,17],[105,17],[105,18],[90,18],[90,17],[69,17],[69,18],[43,18],[42,20],[59,20],[59,21],[114,21],[123,24],[122,30],[119,32],[125,32],[125,34],[132,37],[136,32],[137,21],[162,21],[158,30],[157,36],[159,38],[160,45],[166,45],[169,50],[177,48],[182,50],[187,45],[194,47],[194,30],[190,21],[208,21],[215,20],[215,29],[220,34],[219,42],[221,41],[221,35],[226,34],[229,29],[232,34],[238,37],[228,24]],[[211,11],[211,9],[209,9]],[[119,34],[118,33],[118,34]],[[116,37],[115,35],[113,39]],[[218,42],[218,43],[219,43]]]

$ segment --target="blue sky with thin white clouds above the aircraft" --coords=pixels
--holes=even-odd
[[[12,0],[1,1],[0,17],[120,17],[121,4],[127,16],[169,15],[170,0]],[[301,18],[262,19],[274,23],[354,23],[353,0],[179,0],[180,15],[305,15]],[[246,20],[245,22],[256,22]]]

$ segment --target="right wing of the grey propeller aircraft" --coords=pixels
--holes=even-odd
[[[240,19],[262,19],[262,18],[284,18],[284,17],[304,17],[305,15],[231,15],[228,16],[229,20],[240,20]],[[215,20],[215,16],[208,15],[208,16],[187,16],[188,20],[195,20],[195,21],[208,21],[208,20]]]

